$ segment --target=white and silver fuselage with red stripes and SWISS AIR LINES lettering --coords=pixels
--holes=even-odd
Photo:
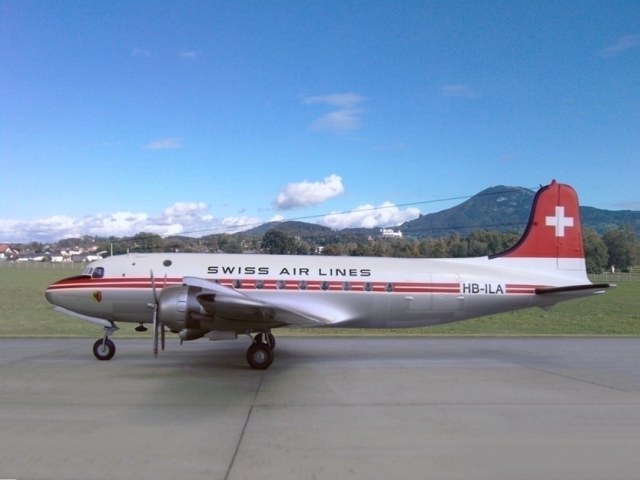
[[[93,262],[46,295],[96,323],[148,323],[164,287],[196,277],[310,319],[290,324],[414,327],[556,303],[535,289],[588,283],[584,260],[572,261],[558,270],[556,259],[131,254]]]

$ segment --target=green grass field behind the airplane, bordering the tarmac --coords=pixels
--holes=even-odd
[[[0,336],[97,337],[101,328],[52,311],[44,290],[82,266],[0,266]],[[121,324],[118,336],[137,336]],[[640,336],[640,282],[621,281],[605,295],[561,303],[549,311],[527,309],[465,322],[399,330],[283,329],[280,335],[633,335]],[[149,335],[142,334],[142,335]]]

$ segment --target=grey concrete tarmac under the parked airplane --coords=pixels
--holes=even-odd
[[[640,479],[639,338],[0,339],[0,478]]]

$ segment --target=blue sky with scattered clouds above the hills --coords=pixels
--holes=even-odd
[[[640,209],[637,1],[0,6],[0,241]]]

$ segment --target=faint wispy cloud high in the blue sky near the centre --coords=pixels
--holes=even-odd
[[[320,104],[332,107],[333,110],[317,118],[311,128],[326,132],[347,132],[360,128],[362,109],[359,105],[366,100],[357,93],[332,93],[305,97],[308,105]]]

